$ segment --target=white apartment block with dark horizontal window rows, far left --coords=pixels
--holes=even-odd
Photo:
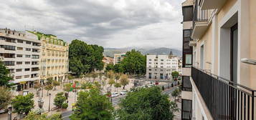
[[[0,57],[9,69],[15,85],[22,91],[39,81],[41,41],[27,31],[0,29]]]

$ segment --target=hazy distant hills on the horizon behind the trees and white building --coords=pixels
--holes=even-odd
[[[131,49],[136,49],[138,51],[141,51],[141,54],[158,54],[158,55],[168,55],[170,53],[170,51],[172,51],[172,53],[176,56],[182,56],[181,51],[177,50],[177,49],[169,49],[169,48],[165,48],[165,47],[161,47],[161,48],[120,48],[120,49],[116,49],[116,48],[104,48],[104,55],[105,56],[111,56],[113,57],[114,54],[120,54],[120,53],[124,53],[126,51],[131,51]]]

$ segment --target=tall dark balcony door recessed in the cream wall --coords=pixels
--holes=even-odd
[[[230,80],[237,83],[237,49],[238,32],[237,24],[230,29]]]

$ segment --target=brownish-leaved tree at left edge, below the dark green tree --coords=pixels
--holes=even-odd
[[[11,103],[12,93],[8,88],[0,86],[0,109],[6,109]]]

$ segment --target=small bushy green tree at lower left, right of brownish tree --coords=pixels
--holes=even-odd
[[[18,95],[11,100],[11,105],[14,108],[14,113],[29,114],[34,108],[34,94],[27,94],[26,96]]]

